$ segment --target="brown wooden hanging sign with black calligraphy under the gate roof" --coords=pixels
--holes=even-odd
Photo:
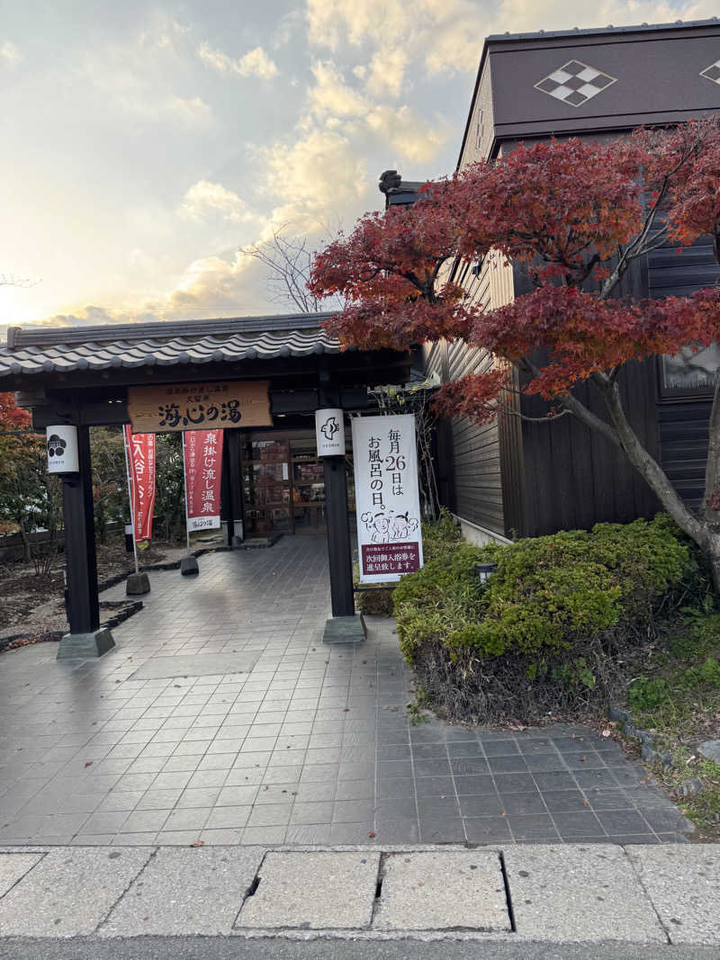
[[[272,426],[269,386],[249,380],[129,387],[128,415],[138,433]]]

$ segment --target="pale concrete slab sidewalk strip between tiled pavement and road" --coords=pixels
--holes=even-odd
[[[149,935],[717,946],[720,847],[0,851],[0,938]]]

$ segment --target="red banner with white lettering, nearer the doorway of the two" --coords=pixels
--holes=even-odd
[[[183,438],[188,532],[219,527],[223,431],[187,430]]]

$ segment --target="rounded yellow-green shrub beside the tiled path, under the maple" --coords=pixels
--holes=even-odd
[[[488,562],[497,572],[481,585],[475,564]],[[607,696],[623,650],[700,577],[662,515],[510,545],[456,540],[397,586],[397,633],[450,714],[528,720]]]

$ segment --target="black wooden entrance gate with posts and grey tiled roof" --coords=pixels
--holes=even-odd
[[[131,387],[180,385],[182,392],[192,384],[226,389],[228,383],[268,382],[274,427],[288,434],[300,429],[304,440],[289,435],[281,441],[276,434],[266,441],[253,441],[241,418],[237,425],[203,424],[228,431],[224,489],[229,490],[230,519],[234,527],[246,506],[240,495],[240,447],[250,444],[244,495],[255,498],[247,504],[252,507],[252,523],[284,522],[297,531],[300,526],[312,526],[315,512],[318,528],[322,519],[327,536],[333,618],[353,614],[346,458],[324,457],[323,480],[317,479],[319,465],[312,458],[308,434],[316,410],[368,411],[372,407],[369,387],[407,382],[412,354],[343,350],[324,331],[323,321],[329,317],[296,314],[9,329],[7,344],[0,345],[0,390],[16,392],[18,405],[32,410],[37,430],[71,425],[78,435],[79,468],[65,474],[62,483],[70,633],[60,642],[60,658],[99,656],[113,645],[99,623],[88,431],[90,426],[130,422]],[[294,439],[305,446],[295,445]],[[259,445],[253,448],[253,443]],[[279,459],[280,446],[269,445],[281,443],[286,444],[284,461]],[[278,459],[268,455],[263,461],[262,449],[275,450],[273,456]],[[258,502],[258,489],[266,491],[264,502]]]

